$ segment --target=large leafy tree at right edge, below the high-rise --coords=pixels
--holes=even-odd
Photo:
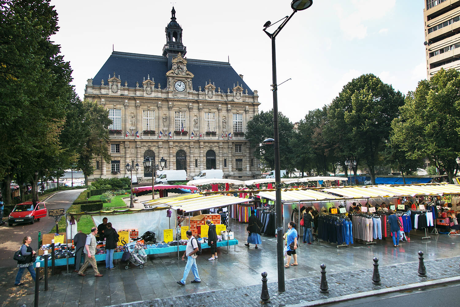
[[[411,159],[429,157],[453,182],[460,154],[460,73],[439,70],[409,92],[401,116],[391,123],[391,142]]]

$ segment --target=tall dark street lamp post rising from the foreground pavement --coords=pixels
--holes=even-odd
[[[275,49],[275,38],[281,29],[288,23],[289,19],[297,11],[302,11],[309,8],[313,4],[312,0],[293,0],[291,2],[291,8],[293,12],[290,16],[286,16],[279,21],[282,23],[273,33],[269,33],[266,29],[273,24],[267,21],[264,24],[263,31],[271,39],[271,65],[272,65],[272,91],[273,91],[273,126],[274,126],[274,142],[275,144],[275,188],[276,188],[276,256],[278,262],[278,291],[285,291],[284,283],[284,263],[283,263],[283,220],[282,220],[282,203],[281,203],[281,174],[280,174],[280,147],[279,147],[279,132],[278,132],[278,96],[277,96],[277,84],[276,84],[276,49]],[[278,23],[277,21],[276,23]],[[274,23],[274,24],[276,24]]]

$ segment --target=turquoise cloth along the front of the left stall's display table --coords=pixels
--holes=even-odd
[[[228,241],[222,240],[222,241],[217,242],[217,247],[226,247],[226,246],[237,245],[237,244],[238,244],[238,240],[236,239],[232,239]],[[179,252],[184,251],[185,248],[186,248],[186,245],[179,245]],[[201,249],[208,249],[208,248],[209,246],[207,245],[207,243],[201,243]],[[144,251],[147,255],[177,253],[177,245],[169,246],[169,247],[153,248],[153,249],[144,249]],[[96,255],[96,261],[105,261],[105,255],[106,254]],[[113,259],[121,259],[122,255],[123,255],[123,252],[114,253]],[[69,264],[74,264],[74,261],[75,261],[75,257],[69,257]],[[43,256],[37,257],[37,260],[35,261],[35,263],[37,262],[40,262],[41,267],[45,265],[45,260],[43,259]],[[67,264],[66,258],[59,258],[59,259],[54,260],[55,266],[65,266],[66,264]],[[49,254],[49,257],[48,257],[48,266],[51,266],[51,254]]]

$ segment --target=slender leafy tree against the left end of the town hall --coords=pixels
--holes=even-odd
[[[112,120],[109,119],[109,111],[98,105],[97,101],[85,99],[75,106],[75,111],[78,112],[81,120],[77,166],[83,171],[85,185],[88,185],[88,176],[94,172],[93,159],[100,156],[106,162],[110,161],[107,147],[109,142],[107,127],[112,123]]]

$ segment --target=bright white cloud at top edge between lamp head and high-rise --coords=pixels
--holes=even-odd
[[[363,39],[367,36],[367,23],[374,22],[377,19],[385,17],[395,6],[396,0],[387,1],[369,1],[369,0],[352,0],[351,5],[334,6],[339,26],[348,40],[354,38]],[[383,32],[382,32],[383,31]],[[386,33],[388,29],[381,29],[380,34]]]

